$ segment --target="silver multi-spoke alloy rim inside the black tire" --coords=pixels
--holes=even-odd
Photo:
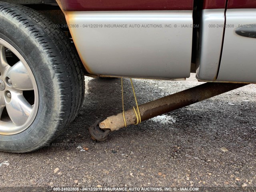
[[[0,135],[26,130],[39,105],[34,75],[22,55],[0,38]]]

